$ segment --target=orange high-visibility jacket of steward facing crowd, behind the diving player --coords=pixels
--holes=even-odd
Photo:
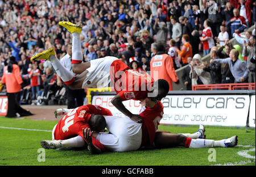
[[[168,54],[156,54],[150,61],[150,72],[154,81],[165,79],[169,83],[169,90],[172,90],[172,81],[179,80],[174,69],[174,61]]]

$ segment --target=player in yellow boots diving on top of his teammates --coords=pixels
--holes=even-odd
[[[116,57],[104,57],[82,63],[80,33],[82,27],[70,22],[59,24],[72,33],[72,69],[73,74],[64,68],[56,57],[55,50],[50,48],[31,57],[31,61],[49,60],[57,75],[71,89],[108,87],[111,82],[117,95],[112,99],[113,105],[131,120],[142,123],[142,117],[134,115],[123,105],[129,99],[142,100],[151,97],[155,101],[166,97],[169,84],[164,79],[154,80],[147,74],[133,71]],[[155,74],[156,75],[156,74]]]

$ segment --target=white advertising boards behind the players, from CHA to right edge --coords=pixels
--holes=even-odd
[[[92,104],[124,117],[111,103],[115,92],[91,92]],[[213,125],[255,128],[255,90],[169,91],[162,99],[164,115],[160,124]],[[123,102],[132,113],[139,113],[139,101]]]

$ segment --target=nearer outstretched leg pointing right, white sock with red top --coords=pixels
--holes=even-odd
[[[189,148],[202,148],[202,147],[233,147],[237,145],[237,136],[228,139],[215,141],[206,139],[192,139],[182,134],[174,134],[168,132],[156,132],[155,146],[158,148],[163,147],[177,147],[185,146]]]

